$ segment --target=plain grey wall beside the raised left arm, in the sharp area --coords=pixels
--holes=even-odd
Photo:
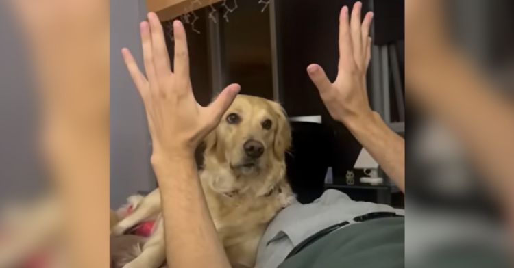
[[[110,207],[127,196],[156,187],[150,159],[145,111],[123,64],[121,48],[141,63],[139,23],[146,16],[145,0],[110,1]]]

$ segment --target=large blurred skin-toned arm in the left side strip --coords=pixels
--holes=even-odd
[[[43,160],[56,186],[53,198],[62,209],[56,222],[63,228],[58,229],[59,237],[51,238],[64,243],[64,266],[105,267],[109,263],[108,3],[11,3],[36,76]]]

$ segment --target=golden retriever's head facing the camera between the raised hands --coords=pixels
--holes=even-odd
[[[206,138],[206,160],[230,167],[237,176],[256,176],[284,164],[291,129],[284,109],[265,98],[238,95]]]

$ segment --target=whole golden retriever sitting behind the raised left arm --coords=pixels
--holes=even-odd
[[[278,103],[238,95],[205,145],[199,178],[219,238],[232,265],[253,267],[267,225],[294,198],[286,181],[289,122]],[[123,234],[155,217],[160,209],[156,189],[111,234]],[[162,219],[158,219],[140,255],[125,267],[160,267],[165,260],[163,232]]]

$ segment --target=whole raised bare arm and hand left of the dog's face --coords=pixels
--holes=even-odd
[[[173,22],[173,62],[169,61],[162,24],[155,13],[140,23],[140,33],[146,76],[128,49],[122,53],[146,108],[168,264],[179,268],[230,267],[209,214],[193,152],[219,123],[241,87],[229,85],[213,103],[202,107],[195,100],[189,77],[184,25]]]

